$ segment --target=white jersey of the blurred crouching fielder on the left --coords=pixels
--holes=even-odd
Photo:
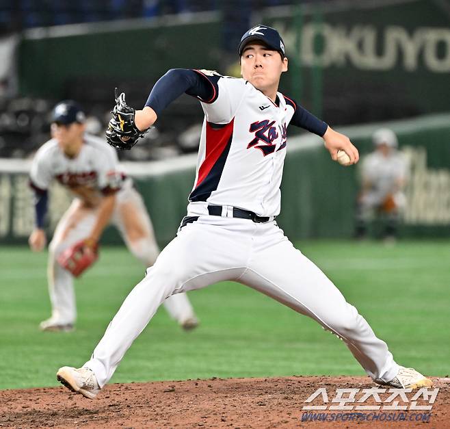
[[[51,181],[57,179],[76,194],[85,189],[97,196],[120,189],[124,177],[118,171],[114,148],[88,134],[75,158],[64,155],[55,139],[44,143],[34,157],[30,173],[31,184],[39,190],[47,190]]]

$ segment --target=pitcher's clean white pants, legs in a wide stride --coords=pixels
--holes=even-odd
[[[183,226],[130,292],[85,363],[103,387],[159,305],[172,294],[237,281],[317,320],[339,335],[367,374],[390,381],[398,372],[384,341],[275,222],[200,216]]]

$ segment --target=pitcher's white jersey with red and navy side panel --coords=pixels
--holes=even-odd
[[[188,213],[203,214],[209,204],[278,215],[295,103],[277,92],[276,105],[244,79],[201,72],[209,74],[215,91],[201,103],[205,118]]]

